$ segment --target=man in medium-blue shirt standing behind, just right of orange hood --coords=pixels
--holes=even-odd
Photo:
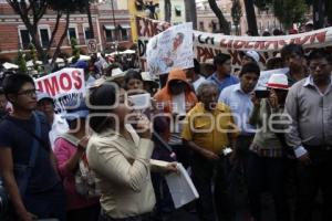
[[[219,94],[225,87],[239,83],[239,80],[230,74],[230,55],[224,53],[216,55],[214,65],[216,66],[216,72],[207,80],[212,81],[218,85]]]

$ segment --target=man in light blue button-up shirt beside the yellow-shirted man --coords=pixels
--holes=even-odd
[[[257,63],[245,64],[239,74],[240,83],[225,88],[219,96],[219,102],[230,107],[235,115],[235,122],[240,129],[237,150],[247,151],[255,135],[255,127],[248,123],[248,119],[253,108],[251,93],[259,76],[260,69]]]

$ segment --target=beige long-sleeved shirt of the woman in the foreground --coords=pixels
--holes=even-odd
[[[133,139],[136,144],[108,130],[92,135],[86,149],[101,188],[102,208],[114,219],[152,212],[155,206],[149,166],[153,143]]]

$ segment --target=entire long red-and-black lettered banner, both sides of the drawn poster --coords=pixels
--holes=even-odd
[[[141,17],[137,17],[136,21],[141,67],[145,69],[146,45],[149,39],[169,28],[169,24]],[[194,38],[195,57],[199,62],[214,59],[216,54],[222,52],[231,56],[234,66],[240,66],[243,51],[257,51],[260,54],[260,62],[264,64],[268,59],[276,56],[284,45],[290,43],[300,44],[305,50],[329,48],[332,51],[332,28],[279,36],[236,36],[194,31]]]

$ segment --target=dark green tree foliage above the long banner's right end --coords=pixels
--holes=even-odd
[[[293,23],[303,22],[309,8],[304,0],[274,0],[274,15],[289,30]]]

